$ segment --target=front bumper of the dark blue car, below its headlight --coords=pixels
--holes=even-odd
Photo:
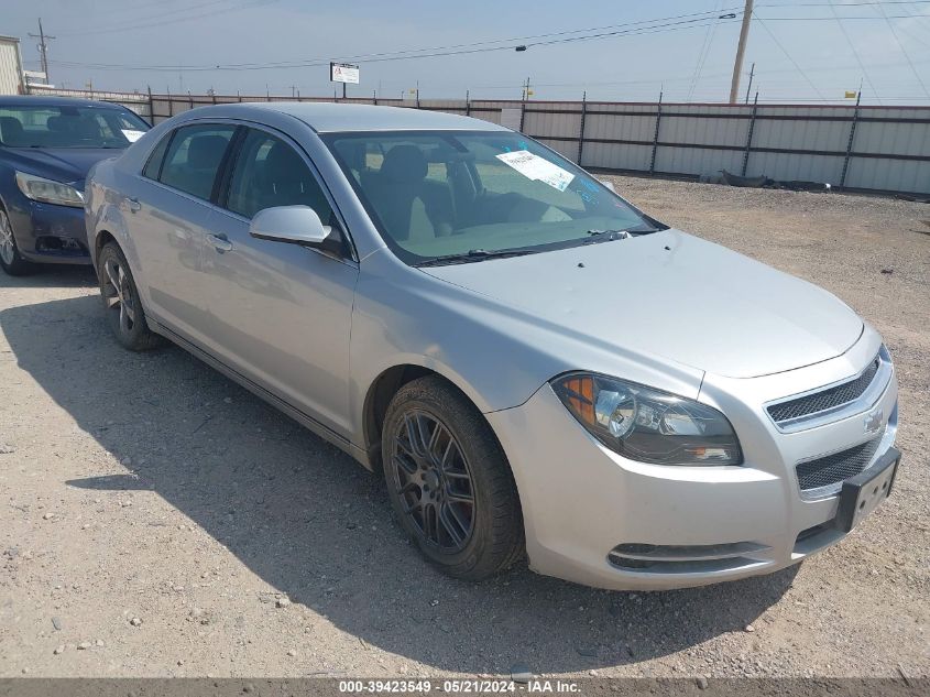
[[[19,196],[9,209],[20,254],[45,264],[89,264],[84,208],[56,206]]]

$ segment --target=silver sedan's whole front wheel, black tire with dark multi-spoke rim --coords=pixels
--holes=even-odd
[[[481,580],[523,556],[523,512],[504,451],[446,380],[429,375],[397,391],[381,451],[401,526],[446,574]]]

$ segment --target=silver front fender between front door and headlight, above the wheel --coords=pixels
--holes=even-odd
[[[483,413],[524,403],[556,375],[589,370],[694,399],[703,371],[633,355],[412,269],[382,250],[361,262],[350,345],[350,409],[387,369],[413,364],[458,386]]]

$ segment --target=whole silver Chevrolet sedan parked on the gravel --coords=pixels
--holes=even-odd
[[[452,576],[526,556],[603,588],[737,579],[890,493],[872,326],[500,126],[207,107],[85,197],[117,340],[167,338],[382,471]]]

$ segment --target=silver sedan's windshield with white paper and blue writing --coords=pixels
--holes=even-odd
[[[409,264],[480,261],[665,229],[519,133],[384,131],[324,140],[387,246]]]

